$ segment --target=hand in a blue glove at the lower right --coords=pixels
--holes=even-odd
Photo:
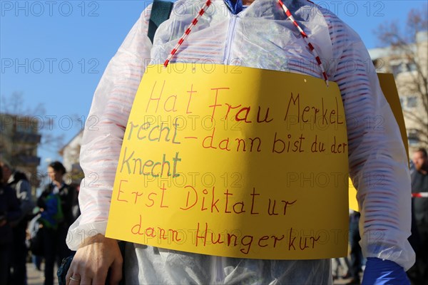
[[[362,285],[409,285],[409,279],[402,266],[394,261],[367,258]]]

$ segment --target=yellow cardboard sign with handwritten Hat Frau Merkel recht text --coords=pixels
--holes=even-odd
[[[107,236],[224,257],[345,256],[347,169],[335,83],[242,66],[148,66]]]

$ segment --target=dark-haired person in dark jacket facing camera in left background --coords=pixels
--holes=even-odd
[[[61,265],[71,254],[66,245],[68,227],[73,222],[72,205],[76,191],[63,181],[66,168],[61,162],[51,162],[48,175],[51,180],[37,200],[44,225],[45,285],[54,284],[54,264]]]

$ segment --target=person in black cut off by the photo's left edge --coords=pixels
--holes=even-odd
[[[8,284],[9,266],[11,264],[13,232],[11,223],[21,217],[19,200],[3,177],[0,166],[0,284]]]

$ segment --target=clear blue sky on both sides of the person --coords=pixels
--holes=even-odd
[[[379,24],[404,24],[410,9],[427,9],[422,0],[315,2],[354,28],[367,48],[377,46],[373,30]],[[69,118],[86,118],[104,68],[149,3],[1,0],[1,97],[21,92],[23,105],[43,103],[43,115],[56,116],[52,132],[63,134],[67,142],[81,128],[81,120]],[[61,159],[57,152],[41,148],[41,167],[46,159]]]

